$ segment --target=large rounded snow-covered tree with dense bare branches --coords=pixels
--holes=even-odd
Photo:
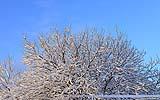
[[[48,36],[40,36],[38,43],[25,38],[24,46],[23,62],[27,70],[14,79],[14,84],[9,83],[12,91],[3,87],[0,92],[0,95],[10,93],[13,100],[159,94],[156,66],[160,60],[144,63],[145,52],[136,49],[121,34],[113,37],[94,29],[74,34],[66,28],[64,32],[55,30]]]

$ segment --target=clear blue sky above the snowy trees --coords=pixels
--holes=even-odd
[[[20,65],[23,33],[34,39],[53,26],[71,24],[127,34],[147,56],[160,55],[160,0],[0,0],[0,59]]]

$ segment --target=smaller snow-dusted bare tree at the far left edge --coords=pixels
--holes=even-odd
[[[0,99],[13,100],[15,72],[11,59],[0,64]]]

